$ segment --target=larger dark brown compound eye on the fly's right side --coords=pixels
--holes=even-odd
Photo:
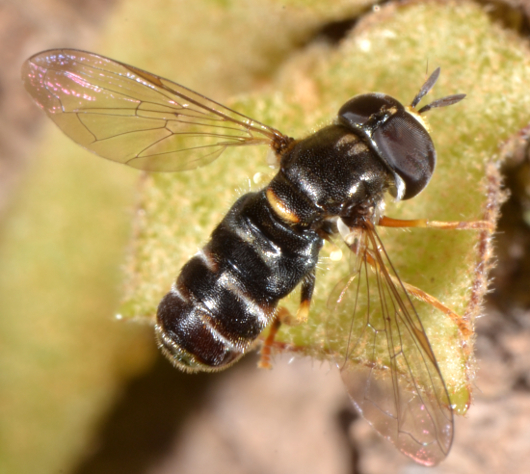
[[[427,130],[410,113],[400,111],[378,127],[372,139],[405,183],[402,199],[419,194],[431,180],[436,151]]]

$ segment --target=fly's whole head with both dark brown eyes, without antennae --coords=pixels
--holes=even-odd
[[[373,151],[405,184],[402,199],[419,194],[430,181],[436,152],[425,127],[396,99],[363,94],[346,102],[339,121],[360,132]]]

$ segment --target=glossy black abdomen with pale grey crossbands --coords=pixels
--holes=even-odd
[[[264,190],[242,196],[161,301],[160,347],[187,370],[234,362],[313,271],[321,247],[316,232],[282,222]]]

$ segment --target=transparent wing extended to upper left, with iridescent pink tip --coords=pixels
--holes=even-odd
[[[291,139],[184,86],[96,54],[44,51],[22,68],[37,104],[71,139],[149,171],[204,166],[230,146]]]

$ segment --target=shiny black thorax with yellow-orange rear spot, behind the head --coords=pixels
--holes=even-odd
[[[284,221],[314,227],[331,217],[349,217],[356,208],[377,206],[392,179],[355,133],[330,125],[283,154],[266,196]]]

